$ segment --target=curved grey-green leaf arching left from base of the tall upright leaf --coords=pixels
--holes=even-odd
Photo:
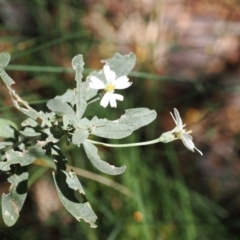
[[[74,110],[67,104],[62,102],[60,99],[52,99],[47,102],[47,107],[57,113],[57,114],[66,114],[71,119],[72,124],[77,127],[78,119]]]

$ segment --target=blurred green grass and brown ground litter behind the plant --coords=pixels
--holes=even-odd
[[[83,54],[85,76],[115,52],[137,63],[116,109],[92,104],[86,116],[116,119],[148,107],[156,121],[111,143],[155,139],[172,130],[176,107],[195,145],[181,141],[129,149],[99,147],[102,159],[126,165],[98,172],[84,152],[62,144],[98,216],[98,228],[73,219],[58,200],[51,170],[31,166],[29,194],[14,227],[0,239],[240,239],[240,7],[234,0],[0,0],[0,51],[10,52],[14,88],[37,110],[74,88],[71,59]],[[0,117],[24,116],[0,83]],[[104,140],[105,141],[105,140]],[[83,171],[83,170],[87,170]],[[94,173],[94,174],[93,174]],[[9,185],[1,173],[1,192]]]

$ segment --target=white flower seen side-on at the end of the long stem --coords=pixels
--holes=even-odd
[[[171,114],[174,122],[176,123],[176,127],[171,131],[171,133],[173,134],[175,139],[181,139],[186,148],[188,148],[192,152],[194,152],[194,149],[196,149],[201,155],[203,155],[202,152],[195,147],[195,145],[192,141],[193,138],[189,134],[192,131],[191,130],[187,131],[184,129],[186,124],[182,123],[182,119],[179,115],[178,110],[176,108],[174,108],[175,117],[171,112],[170,112],[170,114]]]

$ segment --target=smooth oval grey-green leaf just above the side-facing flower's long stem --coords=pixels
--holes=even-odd
[[[128,125],[113,122],[105,126],[92,128],[91,130],[93,135],[111,139],[121,139],[132,134],[132,129]]]

